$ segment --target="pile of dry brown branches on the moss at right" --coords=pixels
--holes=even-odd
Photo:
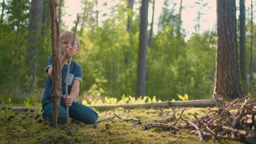
[[[139,126],[143,126],[145,129],[158,127],[171,131],[190,128],[189,134],[198,135],[201,141],[203,141],[204,137],[211,137],[213,141],[217,139],[231,139],[246,143],[256,143],[255,100],[251,98],[237,98],[231,103],[225,103],[224,101],[216,99],[212,100],[216,101],[219,108],[217,110],[209,110],[200,118],[194,115],[194,121],[189,121],[182,117],[184,109],[177,119],[175,113],[173,113],[171,117],[161,119],[158,122],[137,124],[132,128]],[[173,124],[167,124],[167,122],[173,119],[175,119]],[[176,126],[180,119],[186,124]],[[173,136],[178,137],[173,143],[182,137],[181,135]]]

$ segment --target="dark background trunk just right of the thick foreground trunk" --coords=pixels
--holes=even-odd
[[[247,93],[245,0],[240,0],[240,71],[242,91]]]

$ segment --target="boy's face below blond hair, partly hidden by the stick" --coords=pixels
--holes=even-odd
[[[72,47],[72,41],[73,39],[61,39],[60,43],[61,43],[61,54],[62,56],[65,54],[66,50],[68,47]],[[78,53],[79,52],[79,47],[77,46],[77,40],[74,40],[74,53]]]

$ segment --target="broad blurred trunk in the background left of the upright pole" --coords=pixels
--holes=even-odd
[[[37,87],[38,50],[40,44],[40,22],[43,17],[44,0],[32,0],[30,9],[30,22],[26,49],[26,69],[28,76],[32,76],[32,87]]]

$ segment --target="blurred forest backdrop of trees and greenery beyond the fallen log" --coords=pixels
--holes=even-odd
[[[67,0],[66,0],[67,1]],[[59,21],[61,31],[70,30],[61,17],[67,13],[63,10],[65,0],[59,3]],[[2,0],[0,22],[1,74],[0,102],[11,100],[14,104],[23,104],[30,99],[36,105],[40,103],[46,73],[44,68],[51,55],[51,27],[49,16],[49,0],[40,1],[37,17],[30,17],[30,0]],[[33,1],[32,1],[33,2]],[[104,20],[99,19],[98,3],[100,0],[81,0],[79,29],[81,50],[74,56],[74,61],[83,69],[83,82],[80,83],[79,99],[85,97],[113,97],[121,99],[121,95],[136,96],[137,63],[139,50],[139,7],[132,8],[127,0],[103,5],[109,13],[103,13]],[[155,1],[157,2],[157,0]],[[253,1],[252,1],[253,2]],[[153,9],[154,1],[149,1],[149,9]],[[134,1],[133,5],[141,5]],[[214,88],[215,57],[216,57],[216,26],[207,31],[201,30],[205,21],[207,1],[195,1],[196,7],[194,32],[189,34],[182,23],[183,10],[188,8],[182,1],[165,0],[158,22],[148,22],[146,95],[161,100],[179,98],[177,94],[188,94],[189,99],[207,99],[212,97]],[[253,47],[253,58],[256,55],[255,16],[251,16],[253,5],[246,5],[246,71],[251,75],[250,55]],[[239,5],[237,5],[239,14]],[[102,11],[101,11],[102,12]],[[153,15],[148,15],[152,17]],[[40,25],[31,26],[31,20],[38,19]],[[237,41],[239,49],[240,29],[237,17]],[[72,19],[75,22],[75,17]],[[158,26],[152,29],[151,23]],[[74,24],[75,25],[75,24]],[[152,30],[151,30],[152,29]],[[72,28],[74,30],[74,27]],[[152,38],[151,38],[151,32]],[[31,37],[33,35],[33,37]],[[188,35],[190,36],[188,38]],[[252,37],[251,37],[252,36]],[[253,38],[253,39],[251,39]],[[152,45],[151,45],[151,42]],[[238,57],[239,57],[238,50]],[[252,69],[255,77],[256,59]],[[253,77],[253,76],[252,76]],[[255,97],[255,79],[248,78],[248,89],[240,79],[245,95]]]

